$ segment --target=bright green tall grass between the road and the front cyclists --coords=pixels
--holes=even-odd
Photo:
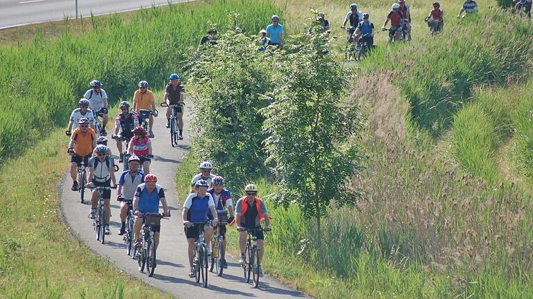
[[[239,12],[245,31],[258,32],[279,9],[267,1],[180,3],[140,10],[130,21],[91,19],[92,29],[58,39],[36,35],[33,44],[0,49],[0,158],[21,152],[49,129],[66,125],[90,80],[99,79],[111,102],[130,98],[139,80],[163,87],[169,73],[183,73],[186,57],[217,24],[226,30]],[[9,146],[6,146],[9,145]]]

